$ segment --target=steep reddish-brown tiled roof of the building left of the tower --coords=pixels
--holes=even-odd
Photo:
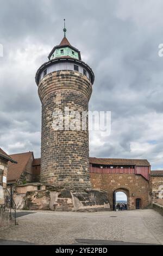
[[[23,170],[26,168],[26,165],[32,155],[33,152],[10,155],[10,157],[16,160],[17,164],[9,162],[7,176],[8,182],[17,181],[20,178]]]

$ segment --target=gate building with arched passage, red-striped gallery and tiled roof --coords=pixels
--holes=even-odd
[[[152,201],[150,174],[150,163],[144,159],[90,157],[90,176],[93,188],[101,188],[108,192],[111,209],[115,208],[115,194],[118,191],[126,193],[129,210],[143,209],[150,205]]]

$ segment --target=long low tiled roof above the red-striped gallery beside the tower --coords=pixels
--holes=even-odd
[[[109,159],[109,158],[90,157],[90,163],[150,166],[150,163],[146,159]]]

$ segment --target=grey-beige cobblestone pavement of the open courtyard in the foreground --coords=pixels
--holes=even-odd
[[[120,212],[35,211],[35,214],[18,217],[17,223],[15,227],[0,231],[0,239],[40,245],[70,245],[82,239],[163,245],[163,217],[152,209]]]

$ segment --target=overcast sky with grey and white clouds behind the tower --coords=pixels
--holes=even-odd
[[[111,111],[111,135],[90,133],[90,156],[163,168],[162,0],[0,0],[1,147],[40,157],[35,73],[63,37],[95,73],[91,111]]]

